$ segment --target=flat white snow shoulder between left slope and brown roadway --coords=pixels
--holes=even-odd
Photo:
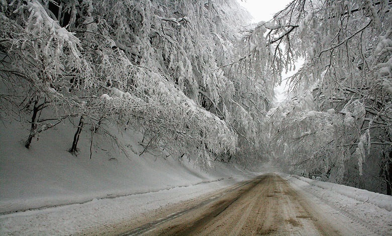
[[[196,198],[232,185],[237,181],[238,179],[221,180],[124,197],[93,199],[83,204],[0,215],[0,234],[69,235],[80,233],[88,228],[121,223],[168,204]]]

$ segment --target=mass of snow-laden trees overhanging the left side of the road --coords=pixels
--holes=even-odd
[[[257,144],[271,86],[230,66],[248,17],[234,0],[3,1],[0,17],[1,105],[31,125],[26,147],[67,121],[72,153],[105,124],[206,166]]]

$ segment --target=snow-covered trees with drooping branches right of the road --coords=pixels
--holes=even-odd
[[[391,6],[296,0],[258,27],[272,45],[269,64],[305,59],[290,78],[292,100],[270,112],[278,158],[289,151],[298,169],[376,191],[371,182],[384,182],[390,194]]]

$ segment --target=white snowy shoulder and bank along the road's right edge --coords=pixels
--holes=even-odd
[[[296,190],[315,202],[322,201],[359,226],[376,234],[392,235],[392,196],[340,184],[280,174]]]

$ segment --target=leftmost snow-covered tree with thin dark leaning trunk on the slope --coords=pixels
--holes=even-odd
[[[3,104],[31,110],[30,134],[25,145],[29,148],[36,134],[72,116],[65,107],[77,109],[78,101],[60,91],[73,84],[91,87],[91,70],[80,52],[79,39],[49,17],[39,2],[2,2],[2,8]],[[71,71],[77,77],[69,79]],[[49,117],[42,115],[49,106],[56,112]],[[9,111],[15,111],[14,108],[6,106]]]

